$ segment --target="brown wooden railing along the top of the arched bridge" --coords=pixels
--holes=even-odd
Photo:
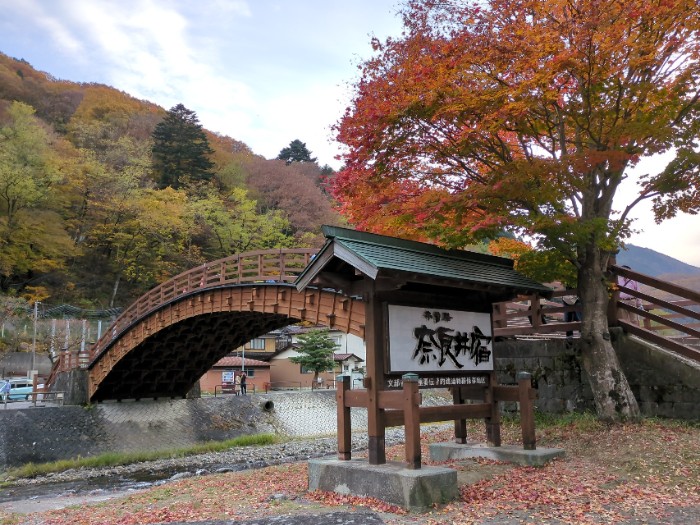
[[[258,250],[218,259],[178,274],[152,288],[126,308],[90,349],[90,360],[99,355],[132,323],[164,304],[219,286],[293,282],[316,252],[313,248]]]

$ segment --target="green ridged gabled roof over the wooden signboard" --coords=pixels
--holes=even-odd
[[[488,287],[513,296],[551,294],[552,290],[513,269],[513,261],[503,257],[465,250],[447,250],[422,242],[323,226],[327,240],[317,256],[304,269],[295,284],[301,290],[322,271],[341,272],[349,265],[370,279],[381,275],[408,275],[418,279],[440,280],[445,286]],[[347,272],[346,272],[346,275]]]

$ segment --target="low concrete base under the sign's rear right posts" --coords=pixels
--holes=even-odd
[[[508,461],[518,465],[541,467],[554,458],[564,456],[561,448],[537,448],[525,450],[517,445],[490,447],[485,444],[470,443],[432,443],[429,445],[432,461],[449,461],[451,459],[486,458],[498,461]]]

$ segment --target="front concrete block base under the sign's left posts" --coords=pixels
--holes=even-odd
[[[457,471],[445,467],[407,469],[401,463],[370,465],[366,459],[309,460],[309,490],[369,496],[406,510],[425,511],[459,496]]]

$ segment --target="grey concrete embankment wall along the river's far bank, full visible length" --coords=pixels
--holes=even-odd
[[[270,402],[274,408],[265,410]],[[426,405],[446,402],[444,393],[424,397]],[[367,410],[353,408],[351,424],[353,430],[366,431]],[[264,432],[335,435],[335,391],[0,410],[0,469],[111,451],[168,450]]]

